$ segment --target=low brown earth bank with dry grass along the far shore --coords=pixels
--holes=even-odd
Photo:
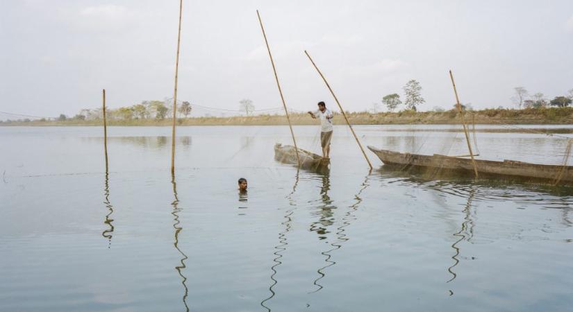
[[[524,124],[573,124],[573,107],[528,108],[524,110],[488,109],[465,112],[466,123],[491,125],[524,125]],[[349,122],[353,125],[419,125],[419,124],[459,124],[460,114],[454,110],[445,112],[347,112]],[[293,125],[317,125],[316,119],[308,114],[291,114]],[[333,123],[346,123],[340,113],[335,113]],[[171,125],[171,119],[108,119],[108,125]],[[102,125],[101,119],[66,121],[3,121],[0,125]],[[256,116],[233,117],[190,117],[177,119],[177,125],[288,125],[284,115],[260,114]]]

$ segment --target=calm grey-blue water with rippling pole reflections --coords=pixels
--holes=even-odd
[[[399,128],[404,127],[404,128]],[[363,144],[465,154],[456,126]],[[534,128],[542,128],[535,126]],[[417,129],[420,130],[420,129]],[[295,127],[318,149],[317,127]],[[287,127],[0,128],[0,311],[570,311],[573,191],[429,181],[337,126],[328,175],[274,162]],[[564,135],[567,136],[567,135]],[[482,159],[565,139],[476,133]],[[249,191],[237,191],[237,179]]]

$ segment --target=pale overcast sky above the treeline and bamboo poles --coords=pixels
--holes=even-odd
[[[0,0],[0,111],[58,116],[170,98],[178,0]],[[183,0],[178,99],[238,110],[286,105],[369,110],[422,85],[419,110],[515,107],[514,87],[549,99],[573,89],[573,1]],[[0,115],[0,119],[10,116]],[[12,116],[12,119],[14,117]]]

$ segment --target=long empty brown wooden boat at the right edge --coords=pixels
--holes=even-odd
[[[391,150],[379,150],[368,146],[384,164],[407,167],[418,167],[433,169],[435,171],[456,171],[474,174],[472,159],[452,157],[445,155],[418,155],[410,153],[398,153]],[[572,184],[573,166],[531,164],[528,162],[517,162],[515,160],[504,160],[497,162],[492,160],[476,159],[476,166],[479,175],[484,176],[504,176],[516,177],[520,180],[533,180],[549,182],[552,184]]]

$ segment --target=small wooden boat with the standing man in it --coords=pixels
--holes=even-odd
[[[301,168],[324,172],[329,171],[330,159],[323,158],[315,153],[310,153],[308,150],[299,148],[299,157],[301,159]],[[274,159],[277,162],[285,164],[298,165],[297,152],[294,146],[277,143],[274,145]]]

